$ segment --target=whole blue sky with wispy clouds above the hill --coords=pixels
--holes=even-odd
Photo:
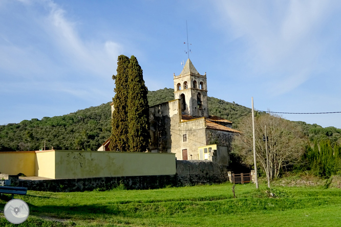
[[[339,1],[0,1],[0,124],[111,101],[117,56],[149,90],[189,58],[208,96],[258,110],[341,111]],[[341,113],[282,115],[341,128]]]

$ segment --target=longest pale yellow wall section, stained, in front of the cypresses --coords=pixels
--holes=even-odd
[[[173,175],[175,154],[56,151],[55,178]]]

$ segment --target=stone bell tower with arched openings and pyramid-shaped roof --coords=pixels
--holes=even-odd
[[[200,75],[189,58],[180,75],[174,75],[174,99],[181,100],[182,114],[208,117],[206,73]]]

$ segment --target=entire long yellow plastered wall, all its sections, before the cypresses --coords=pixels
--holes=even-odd
[[[51,179],[172,175],[175,154],[109,151],[0,152],[0,172]]]

